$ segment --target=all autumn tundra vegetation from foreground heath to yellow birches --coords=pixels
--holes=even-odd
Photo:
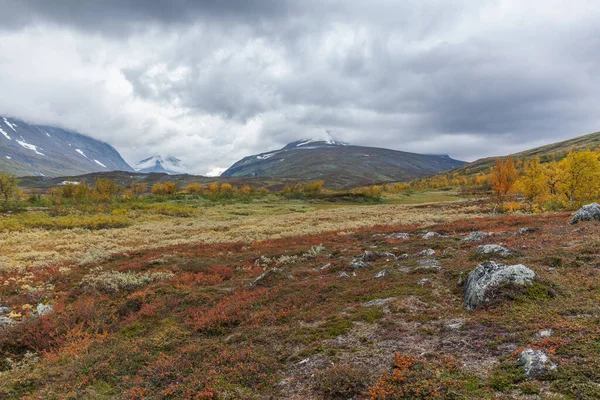
[[[600,224],[568,224],[597,200],[595,163],[347,191],[12,191],[0,397],[599,398]],[[530,279],[466,307],[488,261]]]

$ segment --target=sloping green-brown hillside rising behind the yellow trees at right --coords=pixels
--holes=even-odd
[[[562,142],[551,143],[545,146],[535,147],[533,149],[511,154],[511,156],[515,160],[540,157],[542,162],[546,162],[560,160],[564,158],[571,150],[595,149],[597,147],[600,147],[600,132],[578,136],[573,139],[563,140]],[[481,158],[473,161],[472,163],[461,166],[457,169],[457,172],[466,175],[477,174],[479,172],[489,172],[490,168],[494,166],[496,161],[504,157],[507,156]]]

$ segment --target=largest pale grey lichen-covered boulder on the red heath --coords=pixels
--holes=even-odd
[[[504,283],[526,285],[532,283],[535,272],[524,265],[504,265],[494,261],[481,263],[469,273],[465,283],[465,308],[474,310],[489,301],[489,291]]]

